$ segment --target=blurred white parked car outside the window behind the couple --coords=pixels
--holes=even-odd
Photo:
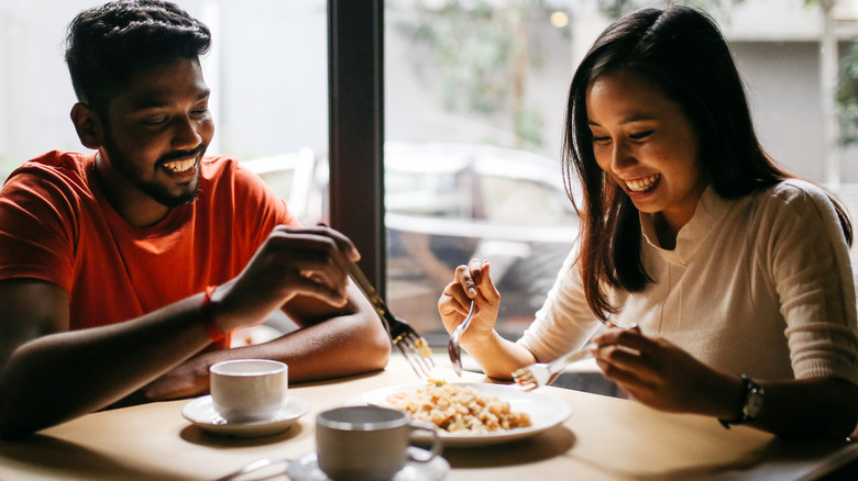
[[[302,222],[326,221],[328,161],[298,154],[243,161]],[[477,144],[385,144],[387,303],[444,344],[438,298],[455,267],[491,264],[502,295],[497,329],[516,338],[534,318],[579,232],[560,164]]]

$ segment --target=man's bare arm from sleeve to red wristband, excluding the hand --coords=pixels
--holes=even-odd
[[[195,295],[124,323],[68,332],[56,284],[0,282],[0,437],[108,405],[210,343]]]

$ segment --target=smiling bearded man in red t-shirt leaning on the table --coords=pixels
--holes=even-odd
[[[293,381],[385,366],[389,339],[348,278],[351,242],[301,227],[234,159],[204,157],[210,42],[160,0],[69,25],[72,121],[96,152],[45,154],[0,191],[0,437],[199,395],[228,358],[285,361]],[[223,349],[276,309],[301,328]]]

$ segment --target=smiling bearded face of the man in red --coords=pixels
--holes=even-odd
[[[134,76],[108,103],[99,150],[128,181],[110,186],[113,194],[133,199],[142,193],[166,206],[193,201],[199,190],[199,163],[215,134],[208,101],[209,89],[195,58]]]

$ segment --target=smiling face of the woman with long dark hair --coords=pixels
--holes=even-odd
[[[662,215],[678,232],[708,183],[697,135],[680,105],[646,77],[616,70],[590,83],[586,109],[598,166],[638,210]]]

